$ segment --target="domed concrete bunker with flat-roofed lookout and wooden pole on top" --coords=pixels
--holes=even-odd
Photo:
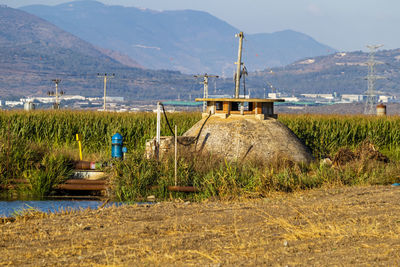
[[[239,53],[235,62],[235,97],[208,98],[208,77],[211,76],[202,76],[204,98],[196,101],[203,102],[203,119],[183,136],[177,137],[176,148],[181,144],[191,153],[204,151],[228,160],[268,162],[283,157],[309,163],[313,159],[310,150],[288,127],[277,121],[274,114],[274,103],[284,102],[284,99],[250,98],[249,95],[247,98],[245,94],[240,97],[240,79],[247,71],[241,61],[243,32],[236,36],[239,37]],[[160,158],[174,146],[173,137],[160,137],[159,133],[158,130],[158,137],[146,143],[149,158],[154,155]]]

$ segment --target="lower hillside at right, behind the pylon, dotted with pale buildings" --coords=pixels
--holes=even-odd
[[[376,53],[380,64],[376,74],[383,79],[376,81],[376,91],[400,96],[400,49]],[[268,83],[286,93],[365,94],[367,91],[368,53],[341,52],[328,56],[306,58],[281,68],[250,73],[248,87],[259,96]]]

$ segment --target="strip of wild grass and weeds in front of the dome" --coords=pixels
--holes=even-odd
[[[279,158],[268,164],[239,163],[195,155],[179,159],[177,184],[194,186],[199,193],[171,193],[167,187],[174,185],[173,158],[157,162],[136,155],[113,166],[111,185],[119,201],[146,201],[150,195],[158,200],[233,200],[266,197],[276,191],[292,193],[320,187],[388,185],[400,181],[399,172],[398,162],[368,157],[332,166],[320,162],[302,165]]]

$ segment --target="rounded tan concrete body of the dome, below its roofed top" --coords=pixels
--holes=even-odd
[[[200,133],[200,135],[199,135]],[[295,162],[309,163],[310,150],[283,123],[275,118],[257,119],[254,116],[231,115],[203,118],[184,136],[199,138],[196,151],[209,152],[228,160],[256,159],[268,162],[284,157]]]

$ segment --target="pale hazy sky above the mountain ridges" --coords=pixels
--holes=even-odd
[[[20,7],[66,0],[0,0]],[[400,48],[399,0],[99,0],[155,10],[203,10],[245,33],[292,29],[338,50],[366,50],[366,44]]]

